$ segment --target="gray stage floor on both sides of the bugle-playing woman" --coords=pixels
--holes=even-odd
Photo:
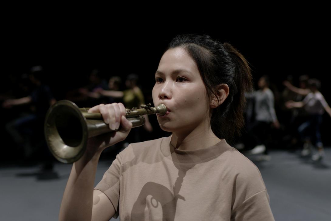
[[[264,162],[249,156],[261,171],[275,220],[331,220],[331,148],[325,148],[325,152],[320,163],[300,158],[298,151],[272,151],[271,160]],[[110,163],[99,163],[96,182]],[[54,177],[40,176],[37,169],[38,166],[0,168],[1,221],[58,220],[71,165],[56,163]]]

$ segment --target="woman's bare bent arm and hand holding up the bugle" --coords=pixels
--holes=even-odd
[[[126,111],[121,103],[99,104],[88,112],[101,113],[109,128],[118,131],[87,140],[86,152],[73,163],[61,203],[59,220],[106,220],[105,217],[109,220],[115,214],[108,197],[100,191],[93,192],[95,174],[102,150],[125,139],[132,123],[125,118]]]

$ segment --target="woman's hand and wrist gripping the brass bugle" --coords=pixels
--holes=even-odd
[[[129,134],[132,123],[125,118],[125,107],[122,103],[99,104],[88,110],[88,113],[101,113],[111,130],[118,130],[101,134],[88,139],[87,151],[93,155],[102,152],[105,148],[124,140]]]

